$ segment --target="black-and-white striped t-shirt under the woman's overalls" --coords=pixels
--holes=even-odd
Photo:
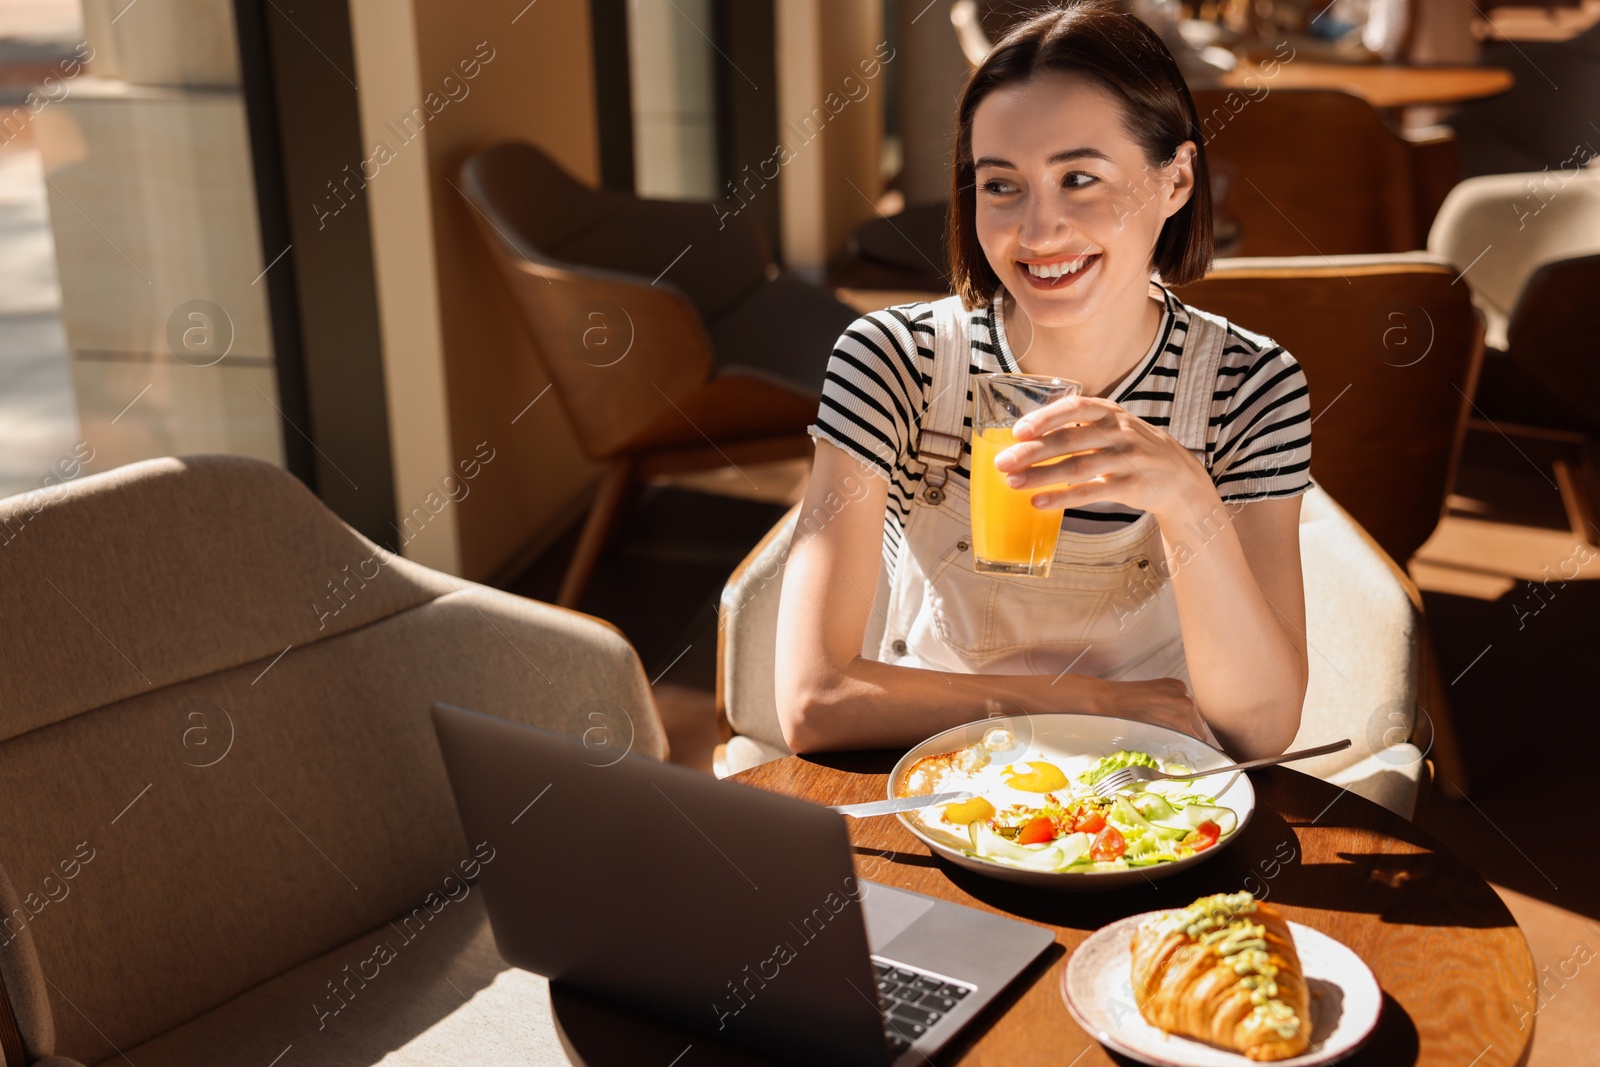
[[[1189,312],[1170,290],[1162,325],[1144,358],[1107,392],[1150,426],[1171,422],[1178,365],[1189,334]],[[971,373],[998,366],[1021,371],[1005,338],[1003,317],[994,304],[968,312],[971,322]],[[917,342],[907,352],[890,322],[898,320]],[[896,549],[910,515],[922,472],[907,466],[925,411],[925,390],[933,386],[933,306],[899,304],[862,315],[840,336],[827,363],[822,405],[810,432],[877,467],[890,483],[883,518],[883,558],[893,571]],[[950,477],[966,480],[971,462],[971,382],[966,418],[968,442]],[[1224,501],[1294,496],[1310,488],[1310,402],[1306,374],[1282,346],[1229,323],[1227,342],[1211,394],[1211,482]],[[1070,507],[1062,528],[1106,533],[1131,523],[1142,512],[1102,501]],[[893,573],[890,574],[893,577]]]

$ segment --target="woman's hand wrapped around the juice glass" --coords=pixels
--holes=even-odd
[[[1064,397],[1018,419],[1018,443],[995,458],[1034,507],[1061,510],[1117,501],[1141,512],[1182,517],[1210,510],[1211,478],[1187,448],[1104,397]],[[1062,459],[1064,456],[1064,459]]]

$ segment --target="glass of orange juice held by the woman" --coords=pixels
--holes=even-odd
[[[1011,427],[1029,411],[1083,386],[1042,374],[984,374],[973,389],[973,569],[1048,577],[1061,534],[1061,512],[1034,507],[1038,490],[1013,490],[995,456],[1016,443]],[[1059,462],[1059,461],[1058,461]]]

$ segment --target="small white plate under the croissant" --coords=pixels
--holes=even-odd
[[[1133,1001],[1133,931],[1149,915],[1130,915],[1094,931],[1077,947],[1061,977],[1067,1011],[1101,1045],[1157,1067],[1242,1067],[1253,1061],[1203,1041],[1166,1035]],[[1310,1046],[1275,1067],[1333,1064],[1358,1049],[1378,1027],[1384,995],[1362,957],[1328,934],[1290,923],[1310,987]]]

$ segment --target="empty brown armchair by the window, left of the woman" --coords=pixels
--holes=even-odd
[[[461,189],[582,450],[606,462],[558,603],[578,603],[635,482],[810,454],[856,312],[779,274],[738,203],[590,189],[520,142],[469,158]]]

